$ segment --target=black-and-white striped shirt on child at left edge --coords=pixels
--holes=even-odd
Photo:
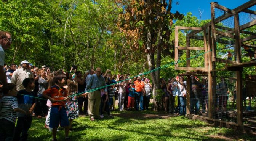
[[[1,111],[0,111],[0,119],[6,119],[10,122],[15,123],[17,113],[14,109],[19,108],[17,99],[13,96],[4,96],[1,99]]]

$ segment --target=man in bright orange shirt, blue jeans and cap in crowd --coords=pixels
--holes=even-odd
[[[145,88],[144,82],[141,81],[141,76],[137,77],[137,80],[134,81],[135,85],[135,109],[139,110],[139,103],[141,107],[141,111],[143,110],[143,89]]]

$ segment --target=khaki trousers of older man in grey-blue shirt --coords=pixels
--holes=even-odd
[[[101,91],[89,92],[88,95],[88,114],[89,117],[99,117],[99,106],[101,105]]]

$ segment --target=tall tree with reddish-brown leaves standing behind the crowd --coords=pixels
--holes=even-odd
[[[171,13],[172,0],[127,0],[117,26],[126,34],[133,49],[144,49],[149,70],[161,66],[162,50],[170,45],[173,19],[182,19],[178,11]],[[160,69],[150,73],[155,90],[160,88]],[[155,103],[155,101],[154,101]],[[156,104],[156,103],[155,103]],[[157,105],[155,105],[157,107]]]

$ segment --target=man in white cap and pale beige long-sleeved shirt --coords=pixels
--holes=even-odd
[[[13,72],[13,76],[11,77],[11,83],[17,86],[17,91],[25,89],[22,85],[22,82],[25,78],[34,79],[34,74],[28,69],[28,67],[29,61],[24,60],[21,61],[21,68],[16,69],[16,71]]]

